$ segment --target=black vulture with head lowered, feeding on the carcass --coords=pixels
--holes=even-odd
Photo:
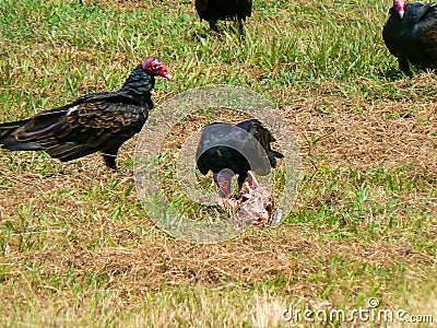
[[[248,172],[268,175],[276,167],[276,159],[284,155],[272,150],[276,141],[258,119],[241,121],[235,126],[213,122],[202,130],[196,159],[202,175],[213,172],[215,184],[225,198],[232,196],[232,178],[238,174],[238,190]]]

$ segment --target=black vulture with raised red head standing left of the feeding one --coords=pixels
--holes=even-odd
[[[172,79],[160,60],[149,57],[116,92],[87,94],[66,106],[0,125],[0,148],[46,151],[67,162],[103,152],[105,164],[117,169],[121,144],[138,133],[153,108],[155,77]]]

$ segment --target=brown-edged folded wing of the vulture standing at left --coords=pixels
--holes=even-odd
[[[37,143],[42,150],[63,161],[96,151],[115,152],[141,130],[147,109],[135,102],[107,101],[75,102],[39,113],[19,128],[14,137],[21,142]]]

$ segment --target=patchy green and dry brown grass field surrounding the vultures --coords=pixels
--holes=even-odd
[[[437,320],[437,77],[399,72],[381,37],[391,1],[255,0],[244,39],[210,35],[193,1],[84,2],[0,2],[0,121],[116,90],[156,56],[174,75],[156,105],[208,84],[273,102],[300,148],[299,196],[277,229],[202,246],[147,218],[135,139],[117,174],[98,154],[2,150],[1,326],[292,327],[291,305],[370,297]]]

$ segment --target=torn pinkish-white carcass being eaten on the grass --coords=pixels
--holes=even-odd
[[[248,172],[241,192],[238,196],[224,198],[223,204],[236,222],[245,227],[276,226],[282,219],[280,210],[274,209],[272,192],[259,185],[251,171]]]

